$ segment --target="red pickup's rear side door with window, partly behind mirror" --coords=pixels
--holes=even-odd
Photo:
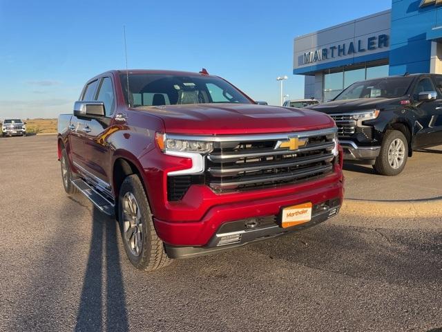
[[[93,80],[86,84],[81,92],[80,100],[95,100],[99,80]],[[69,140],[71,147],[71,158],[76,169],[85,167],[86,159],[84,154],[84,118],[72,116],[69,124]]]

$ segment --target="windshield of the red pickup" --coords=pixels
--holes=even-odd
[[[127,102],[126,74],[120,75]],[[219,77],[129,74],[131,107],[175,104],[251,104],[240,91]]]

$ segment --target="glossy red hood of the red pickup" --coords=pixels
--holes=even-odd
[[[309,109],[258,104],[187,104],[137,107],[162,118],[167,133],[282,133],[334,127],[329,116]]]

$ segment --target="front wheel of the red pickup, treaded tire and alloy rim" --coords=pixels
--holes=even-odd
[[[136,206],[133,210],[127,205],[132,198],[135,198],[132,206]],[[127,176],[119,190],[118,214],[124,250],[135,268],[153,271],[171,264],[172,259],[164,251],[164,243],[155,232],[146,192],[135,174]]]

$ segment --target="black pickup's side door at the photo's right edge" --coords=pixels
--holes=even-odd
[[[439,89],[436,89],[430,76],[419,79],[414,87],[413,98],[417,101],[419,93],[430,91],[436,91],[436,100],[421,102],[416,107],[414,148],[442,144],[442,93]]]

